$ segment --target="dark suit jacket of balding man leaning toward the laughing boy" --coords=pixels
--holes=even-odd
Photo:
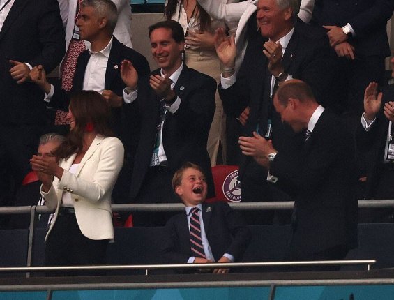
[[[270,167],[278,183],[296,190],[291,250],[305,256],[335,246],[354,247],[357,179],[353,137],[339,117],[324,110],[309,139],[304,140],[305,135],[298,134],[292,147],[278,152]]]

